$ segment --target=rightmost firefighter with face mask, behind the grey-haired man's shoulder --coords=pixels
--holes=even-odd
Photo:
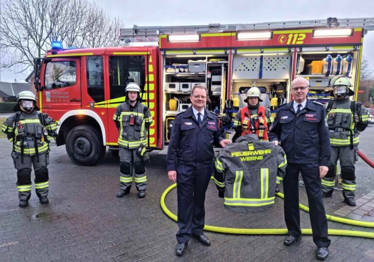
[[[331,79],[331,96],[327,103],[327,124],[330,131],[331,159],[329,171],[322,178],[322,196],[331,197],[336,177],[337,160],[340,160],[344,202],[355,203],[355,162],[358,160],[358,135],[368,125],[369,116],[361,103],[349,99],[355,93],[351,82],[344,75]]]

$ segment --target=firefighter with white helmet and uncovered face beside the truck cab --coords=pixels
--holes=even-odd
[[[135,185],[139,198],[146,196],[147,176],[145,164],[149,155],[144,148],[147,131],[152,123],[150,110],[142,104],[141,89],[137,83],[129,83],[125,89],[125,102],[117,107],[113,120],[118,128],[120,157],[120,190],[117,197],[130,192],[132,168],[135,169]]]

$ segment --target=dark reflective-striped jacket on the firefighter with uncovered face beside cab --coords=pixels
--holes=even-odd
[[[137,149],[141,144],[146,144],[152,116],[144,104],[137,102],[132,107],[130,101],[127,100],[117,107],[113,121],[119,127],[118,145],[128,149]]]

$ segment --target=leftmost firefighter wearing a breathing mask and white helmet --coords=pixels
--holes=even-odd
[[[17,95],[16,113],[2,125],[1,131],[13,143],[12,158],[17,169],[19,206],[31,197],[31,166],[35,171],[35,191],[41,204],[47,204],[49,142],[55,138],[57,125],[48,114],[37,111],[37,97],[30,91]]]

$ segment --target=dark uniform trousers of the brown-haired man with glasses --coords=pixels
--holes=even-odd
[[[191,234],[203,234],[205,225],[205,193],[212,175],[213,166],[197,169],[194,166],[178,165],[177,199],[178,242],[187,243]]]

